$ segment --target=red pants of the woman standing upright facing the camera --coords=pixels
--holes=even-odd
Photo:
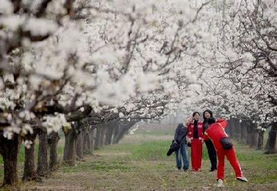
[[[193,138],[191,141],[191,166],[193,170],[200,170],[202,164],[202,141]]]

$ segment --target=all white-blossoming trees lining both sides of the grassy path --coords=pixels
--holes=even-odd
[[[251,119],[275,145],[275,13],[276,1],[1,0],[3,185],[18,183],[21,141],[24,179],[37,179],[57,166],[59,129],[73,165],[171,110]]]

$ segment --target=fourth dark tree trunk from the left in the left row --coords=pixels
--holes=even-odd
[[[59,168],[59,164],[57,161],[57,143],[60,140],[60,136],[56,132],[52,132],[48,136],[48,145],[50,149],[50,157],[49,157],[49,168],[51,172],[56,171]]]

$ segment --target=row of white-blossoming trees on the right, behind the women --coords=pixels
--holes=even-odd
[[[220,116],[233,118],[229,134],[262,148],[269,129],[266,153],[276,153],[277,25],[276,1],[230,1],[215,19],[217,40],[213,54],[203,58],[205,98]],[[240,121],[240,122],[238,122]]]

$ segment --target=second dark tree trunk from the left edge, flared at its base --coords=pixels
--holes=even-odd
[[[35,130],[35,129],[34,129]],[[35,138],[37,136],[37,130],[33,134],[28,134],[26,140],[31,140],[33,144],[30,148],[25,147],[25,158],[24,158],[24,173],[22,181],[42,181],[35,171]]]

